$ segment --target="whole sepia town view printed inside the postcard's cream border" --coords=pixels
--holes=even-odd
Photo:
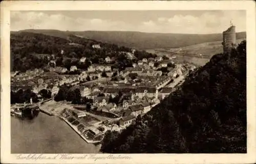
[[[247,15],[10,11],[10,153],[247,154]]]

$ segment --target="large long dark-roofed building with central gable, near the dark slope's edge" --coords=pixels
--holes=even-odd
[[[135,96],[138,96],[139,98],[142,98],[144,96],[157,98],[158,90],[153,87],[139,87],[135,91]]]

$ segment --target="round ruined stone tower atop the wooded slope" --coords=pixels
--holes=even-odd
[[[222,33],[223,35],[223,53],[229,53],[232,48],[236,47],[236,26],[230,24],[230,27]]]

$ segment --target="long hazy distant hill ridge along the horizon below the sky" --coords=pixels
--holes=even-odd
[[[76,35],[88,39],[117,44],[137,49],[176,48],[204,42],[221,41],[222,34],[162,34],[123,31],[58,31],[58,30],[24,30],[67,39]],[[237,33],[237,39],[246,38],[246,33]]]

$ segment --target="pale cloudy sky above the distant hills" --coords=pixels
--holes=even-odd
[[[246,31],[244,10],[11,11],[11,31],[138,31],[147,33],[222,33],[230,20]]]

